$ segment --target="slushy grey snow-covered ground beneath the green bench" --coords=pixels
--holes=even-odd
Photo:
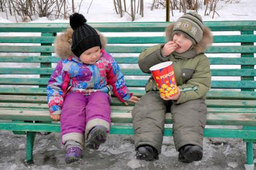
[[[36,136],[33,165],[23,164],[25,141],[24,135],[0,132],[0,169],[245,169],[246,146],[240,139],[205,138],[203,159],[190,164],[178,162],[170,137],[164,137],[162,153],[154,162],[135,159],[133,136],[110,135],[99,150],[86,149],[83,159],[69,165],[64,162],[59,133]]]

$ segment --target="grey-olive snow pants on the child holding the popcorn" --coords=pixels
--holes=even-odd
[[[154,91],[146,93],[132,111],[135,147],[151,145],[161,153],[167,111],[172,113],[176,150],[187,144],[202,147],[207,114],[204,100],[190,100],[176,105],[174,101],[161,99],[160,94]]]

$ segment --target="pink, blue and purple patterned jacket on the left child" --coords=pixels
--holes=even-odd
[[[67,59],[61,59],[46,88],[50,114],[61,114],[67,89],[68,93],[82,93],[87,96],[94,90],[107,92],[107,85],[111,85],[114,96],[120,102],[125,102],[132,94],[129,93],[123,78],[119,65],[103,48],[101,58],[93,65],[84,64],[73,54]]]

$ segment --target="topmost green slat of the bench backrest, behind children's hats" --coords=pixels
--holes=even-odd
[[[162,32],[171,22],[88,23],[101,32]],[[204,22],[212,31],[254,31],[252,21]],[[0,32],[62,32],[69,23],[1,23]]]

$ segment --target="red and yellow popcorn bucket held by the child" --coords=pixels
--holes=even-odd
[[[170,97],[178,93],[172,61],[161,62],[149,68],[161,97]]]

